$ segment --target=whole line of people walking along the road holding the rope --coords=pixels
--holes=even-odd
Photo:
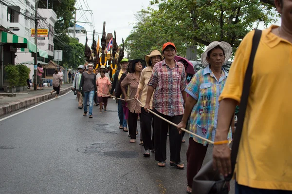
[[[292,84],[292,54],[289,53],[292,51],[292,4],[290,0],[275,0],[275,4],[282,16],[282,26],[273,25],[262,32],[256,53],[237,155],[235,173],[238,194],[291,194],[292,191],[289,136],[292,107],[291,103],[285,103],[292,95],[291,90],[287,90]],[[284,5],[290,8],[287,10]],[[204,68],[188,84],[185,66],[174,59],[177,50],[172,42],[164,43],[162,54],[154,50],[146,55],[145,60],[124,58],[121,69],[114,75],[112,86],[104,71],[101,70],[101,77],[96,78],[92,72],[93,64],[87,65],[86,72],[83,72],[84,67],[79,66],[81,80],[76,74],[73,81],[73,88],[79,88],[78,108],[82,108],[80,93],[84,93],[84,116],[89,97],[89,116],[92,117],[96,86],[99,87],[99,104],[107,104],[106,99],[110,95],[121,98],[117,100],[119,128],[128,131],[129,142],[135,143],[140,114],[144,156],[149,157],[151,151],[154,152],[159,167],[166,166],[166,139],[169,134],[169,165],[184,169],[181,163],[181,129],[189,125],[190,132],[216,142],[213,147],[214,169],[218,168],[226,176],[231,172],[228,142],[235,133],[234,113],[240,103],[253,35],[254,31],[242,40],[229,72],[222,66],[232,56],[231,45],[224,41],[211,42],[201,55]],[[285,106],[280,106],[284,103]],[[170,125],[162,118],[178,126]],[[207,141],[197,136],[191,135],[189,138],[186,153],[187,193],[192,192],[193,177],[201,169],[208,145]]]

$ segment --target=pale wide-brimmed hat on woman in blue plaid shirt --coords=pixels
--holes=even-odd
[[[229,60],[229,58],[231,58],[231,56],[232,56],[232,47],[231,47],[231,45],[229,43],[227,43],[227,42],[224,42],[224,41],[221,41],[221,42],[214,41],[214,42],[211,42],[209,44],[209,46],[207,47],[207,49],[202,53],[201,62],[202,62],[204,67],[207,67],[209,65],[209,62],[206,59],[208,52],[211,51],[216,46],[220,46],[223,49],[224,53],[225,53],[225,61],[224,61],[224,63],[226,63]]]

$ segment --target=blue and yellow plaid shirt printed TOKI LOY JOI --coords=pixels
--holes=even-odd
[[[185,92],[197,100],[190,117],[190,131],[206,139],[214,141],[218,109],[219,95],[225,85],[228,73],[222,69],[219,80],[208,67],[198,71],[185,89]],[[206,145],[207,142],[192,136],[194,141]],[[231,139],[231,131],[228,139]]]

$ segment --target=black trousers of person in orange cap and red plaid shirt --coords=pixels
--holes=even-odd
[[[159,116],[162,116],[175,124],[179,124],[183,118],[183,115],[167,116],[159,113],[155,109],[153,111]],[[168,127],[169,127],[170,161],[181,162],[182,135],[179,134],[179,131],[175,126],[169,125],[168,122],[164,121],[158,116],[154,116],[155,160],[157,161],[166,160],[166,140]]]

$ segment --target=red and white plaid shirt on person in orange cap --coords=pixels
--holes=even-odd
[[[184,66],[175,61],[170,69],[165,59],[156,63],[148,86],[155,88],[152,107],[167,116],[183,115],[183,95],[186,88]]]

